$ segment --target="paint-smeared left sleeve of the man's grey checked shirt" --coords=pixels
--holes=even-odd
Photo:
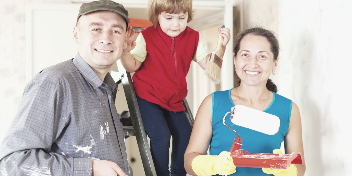
[[[69,118],[63,90],[46,80],[27,84],[17,114],[0,146],[0,175],[83,176],[91,173],[91,158],[50,152]]]

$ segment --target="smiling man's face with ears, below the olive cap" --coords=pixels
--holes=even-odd
[[[109,70],[127,48],[126,21],[112,11],[82,15],[74,29],[74,40],[93,70]]]

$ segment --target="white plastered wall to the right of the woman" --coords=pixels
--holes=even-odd
[[[279,1],[279,93],[300,107],[306,175],[352,173],[350,1]],[[350,142],[348,142],[350,143]]]

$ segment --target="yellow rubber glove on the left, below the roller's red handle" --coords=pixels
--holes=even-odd
[[[199,155],[192,161],[192,169],[198,176],[230,175],[236,172],[231,152],[223,151],[219,155]]]

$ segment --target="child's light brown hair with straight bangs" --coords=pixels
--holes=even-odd
[[[161,12],[180,14],[188,12],[187,23],[193,18],[192,0],[150,0],[147,10],[149,21],[157,26]]]

